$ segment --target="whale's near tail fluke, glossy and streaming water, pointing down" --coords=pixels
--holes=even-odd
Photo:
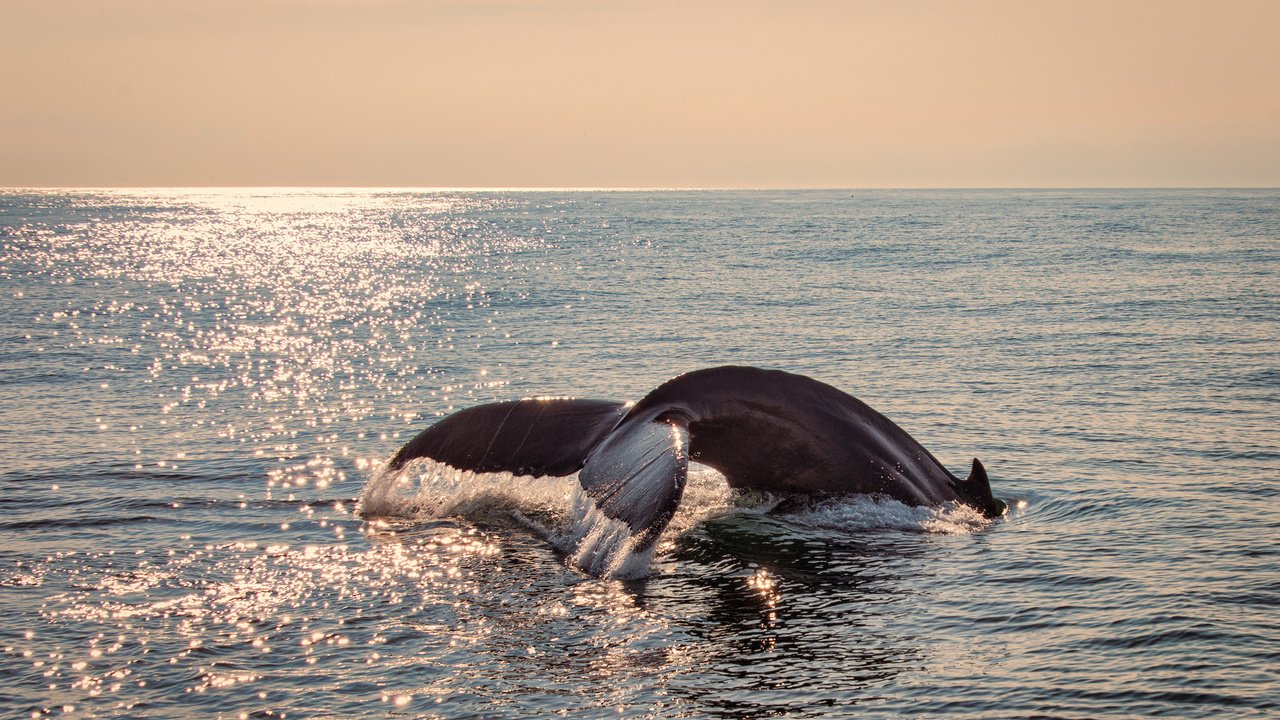
[[[626,523],[635,551],[671,521],[689,477],[689,429],[663,420],[623,423],[591,451],[579,482],[596,509]]]

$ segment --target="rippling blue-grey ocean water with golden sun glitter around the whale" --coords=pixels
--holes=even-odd
[[[1280,716],[1280,191],[0,191],[0,310],[6,717]],[[371,486],[721,364],[1009,515],[695,468],[618,580],[573,478]]]

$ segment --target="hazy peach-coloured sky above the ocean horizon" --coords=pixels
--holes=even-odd
[[[0,186],[1280,186],[1280,1],[0,0]]]

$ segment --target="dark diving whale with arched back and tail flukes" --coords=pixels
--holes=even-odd
[[[805,375],[736,365],[677,375],[635,404],[529,397],[466,407],[404,443],[387,469],[421,457],[475,473],[577,473],[595,510],[625,524],[636,552],[652,550],[675,515],[690,461],[740,491],[954,502],[988,518],[1006,511],[977,457],[960,479],[854,396]]]

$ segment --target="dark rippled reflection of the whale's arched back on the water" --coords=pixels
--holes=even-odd
[[[654,603],[696,603],[690,626],[712,652],[676,689],[713,714],[822,716],[922,667],[919,638],[887,630],[909,547],[806,536],[760,516],[708,523],[681,542],[684,587]],[[890,610],[890,614],[892,611]]]

